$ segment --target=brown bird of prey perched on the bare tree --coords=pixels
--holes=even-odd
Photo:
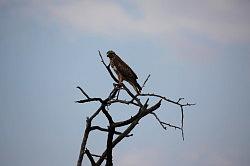
[[[142,88],[136,81],[138,77],[135,72],[125,62],[123,62],[123,60],[118,55],[116,55],[114,51],[108,51],[107,57],[109,57],[110,65],[118,76],[119,84],[125,80],[130,83],[137,94],[139,94]]]

